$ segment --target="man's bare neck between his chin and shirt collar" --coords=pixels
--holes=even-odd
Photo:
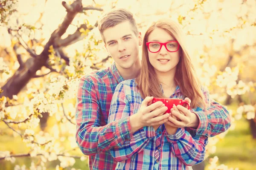
[[[116,67],[120,76],[122,76],[123,79],[134,79],[139,76],[140,69],[141,69],[141,61],[140,59],[137,59],[136,62],[134,62],[134,65],[132,65],[130,68],[121,68]]]

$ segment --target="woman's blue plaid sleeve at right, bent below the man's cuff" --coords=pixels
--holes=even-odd
[[[184,127],[178,128],[174,135],[165,133],[170,144],[170,150],[187,166],[199,164],[204,160],[206,153],[205,146],[208,144],[208,137],[192,135]]]

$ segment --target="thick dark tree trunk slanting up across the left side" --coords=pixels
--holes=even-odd
[[[49,47],[51,45],[54,47],[56,46],[57,48],[59,47],[58,42],[61,41],[61,36],[66,32],[74,17],[76,17],[76,14],[83,9],[81,0],[75,0],[71,5],[68,5],[63,1],[62,5],[67,9],[67,15],[63,22],[55,31],[53,31],[40,55],[32,54],[30,52],[32,57],[29,58],[23,68],[20,69],[20,71],[16,71],[2,87],[3,93],[0,94],[0,98],[6,96],[12,99],[13,95],[17,95],[29,80],[35,77],[36,71],[41,70],[42,66],[46,65],[47,59],[49,58]]]

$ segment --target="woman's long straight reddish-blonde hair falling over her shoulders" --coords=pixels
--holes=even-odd
[[[172,20],[158,20],[152,23],[143,38],[142,68],[139,77],[136,79],[139,91],[143,99],[146,96],[164,97],[160,89],[160,82],[148,59],[148,36],[155,28],[161,28],[172,35],[180,44],[180,61],[177,64],[175,73],[175,83],[179,85],[184,97],[191,99],[191,108],[205,107],[204,94],[201,90],[201,84],[196,76],[195,68],[185,47],[185,39],[182,28],[178,23]],[[164,48],[164,47],[162,47]]]

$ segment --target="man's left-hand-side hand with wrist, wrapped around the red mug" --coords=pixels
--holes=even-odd
[[[130,117],[132,132],[144,126],[159,126],[168,121],[169,114],[163,114],[167,107],[163,102],[152,103],[153,97],[146,97],[140,106],[140,111]]]

